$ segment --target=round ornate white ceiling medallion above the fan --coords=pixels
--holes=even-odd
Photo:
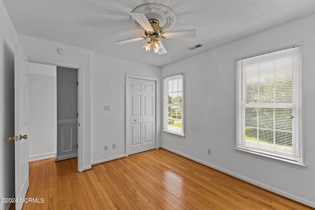
[[[159,26],[163,30],[168,30],[174,26],[176,22],[175,12],[167,6],[157,3],[147,3],[135,8],[132,12],[144,13],[145,16],[150,19],[157,19]],[[130,20],[137,28],[142,29],[140,24],[130,16]]]

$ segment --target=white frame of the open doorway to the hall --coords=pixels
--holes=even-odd
[[[78,172],[83,172],[83,65],[76,64],[76,63],[68,63],[58,60],[49,60],[49,59],[41,59],[41,58],[35,58],[35,57],[28,57],[29,62],[34,63],[41,63],[46,65],[55,65],[55,66],[62,66],[62,67],[68,67],[68,68],[76,68],[78,69],[78,83],[80,86],[77,88],[77,112],[78,112],[78,134],[77,134],[77,144],[78,144]],[[56,140],[57,141],[57,140]]]

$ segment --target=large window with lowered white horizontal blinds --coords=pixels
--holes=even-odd
[[[237,61],[236,149],[303,165],[301,49]]]

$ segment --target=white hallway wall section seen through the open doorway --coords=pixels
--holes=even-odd
[[[57,152],[57,67],[29,63],[30,161]]]

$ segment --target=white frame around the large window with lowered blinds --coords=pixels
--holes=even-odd
[[[241,125],[242,116],[240,113],[241,112],[240,107],[243,106],[244,108],[246,108],[246,106],[241,104],[242,101],[240,101],[240,100],[242,100],[242,99],[239,98],[239,94],[244,93],[244,90],[243,90],[244,84],[243,83],[246,80],[244,80],[244,78],[243,78],[243,73],[242,73],[243,66],[240,69],[238,62],[242,61],[242,60],[258,57],[258,56],[264,56],[264,55],[267,55],[270,53],[277,53],[277,52],[280,52],[283,50],[288,50],[288,49],[295,48],[295,47],[299,48],[299,72],[298,72],[298,74],[299,74],[299,80],[300,80],[299,81],[299,97],[300,97],[299,110],[300,110],[300,112],[299,112],[299,121],[298,121],[299,129],[298,129],[298,140],[296,141],[299,144],[298,160],[297,161],[288,160],[286,158],[281,157],[281,155],[275,156],[274,153],[268,154],[268,152],[259,152],[259,151],[256,151],[254,149],[251,150],[250,148],[246,148],[246,147],[245,148],[238,147],[238,145],[239,145],[238,142],[241,141],[241,140],[239,140],[239,138],[241,138],[240,132],[242,132],[243,128],[245,129],[245,119],[244,119],[244,126]],[[303,91],[303,63],[302,63],[302,60],[303,60],[303,43],[299,43],[299,44],[294,45],[294,46],[289,46],[289,47],[273,50],[273,51],[270,51],[267,53],[256,54],[256,55],[251,56],[251,57],[236,59],[236,61],[235,61],[235,64],[236,64],[236,66],[235,66],[236,67],[235,68],[236,69],[236,141],[235,141],[235,148],[234,149],[237,152],[242,153],[242,154],[251,155],[254,157],[258,157],[258,158],[262,158],[262,159],[269,160],[272,162],[284,164],[287,166],[295,167],[298,169],[304,169],[306,167],[306,165],[304,164],[304,158],[303,158],[304,157],[304,154],[303,154],[304,148],[303,148],[303,141],[302,141],[302,132],[303,132],[303,129],[302,129],[302,121],[303,121],[302,120],[302,108],[303,108],[303,104],[302,104],[302,102],[303,102],[303,95],[302,95],[302,91]],[[292,75],[292,77],[293,77],[293,75]],[[292,81],[293,80],[295,80],[295,77],[293,77]],[[292,86],[292,88],[293,88],[293,86]],[[292,105],[293,105],[293,102],[292,102]],[[271,108],[276,109],[278,107],[275,105],[275,106],[272,106]],[[245,118],[245,111],[244,111],[243,118]],[[294,123],[292,123],[292,129],[294,126],[295,126]],[[243,141],[245,142],[245,139]],[[241,145],[241,146],[243,146],[243,145]]]

